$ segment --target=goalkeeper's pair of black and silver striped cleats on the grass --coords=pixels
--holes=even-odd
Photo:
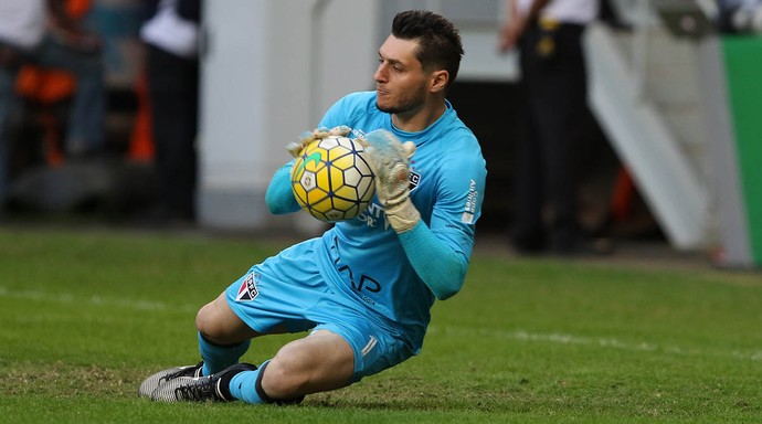
[[[230,381],[243,371],[254,371],[256,365],[236,363],[208,377],[179,377],[159,385],[151,393],[156,402],[231,402],[235,398],[230,393]]]

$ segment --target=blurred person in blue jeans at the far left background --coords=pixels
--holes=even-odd
[[[8,186],[8,126],[20,107],[15,82],[27,64],[67,71],[76,80],[66,125],[67,158],[96,156],[104,148],[100,38],[68,13],[65,0],[0,1],[0,210]]]

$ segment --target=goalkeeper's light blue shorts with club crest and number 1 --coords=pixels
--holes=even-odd
[[[399,329],[330,289],[314,259],[319,243],[308,240],[254,265],[227,287],[227,305],[260,333],[328,330],[341,336],[354,351],[352,382],[412,357]]]

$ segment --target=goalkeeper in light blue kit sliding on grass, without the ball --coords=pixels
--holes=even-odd
[[[486,168],[446,93],[463,55],[455,26],[399,13],[379,50],[375,91],[350,94],[288,147],[347,135],[367,146],[377,199],[358,218],[254,265],[197,316],[202,361],[147,378],[155,401],[288,404],[347,386],[421,351],[435,299],[463,286]],[[400,140],[404,140],[401,142]],[[293,161],[266,193],[273,213],[299,210]],[[309,331],[257,368],[240,362],[261,336]]]

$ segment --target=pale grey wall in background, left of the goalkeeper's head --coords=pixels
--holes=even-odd
[[[199,216],[229,229],[290,226],[264,193],[289,157],[346,93],[372,87],[377,1],[207,2],[202,67]],[[317,224],[309,220],[306,230]]]

